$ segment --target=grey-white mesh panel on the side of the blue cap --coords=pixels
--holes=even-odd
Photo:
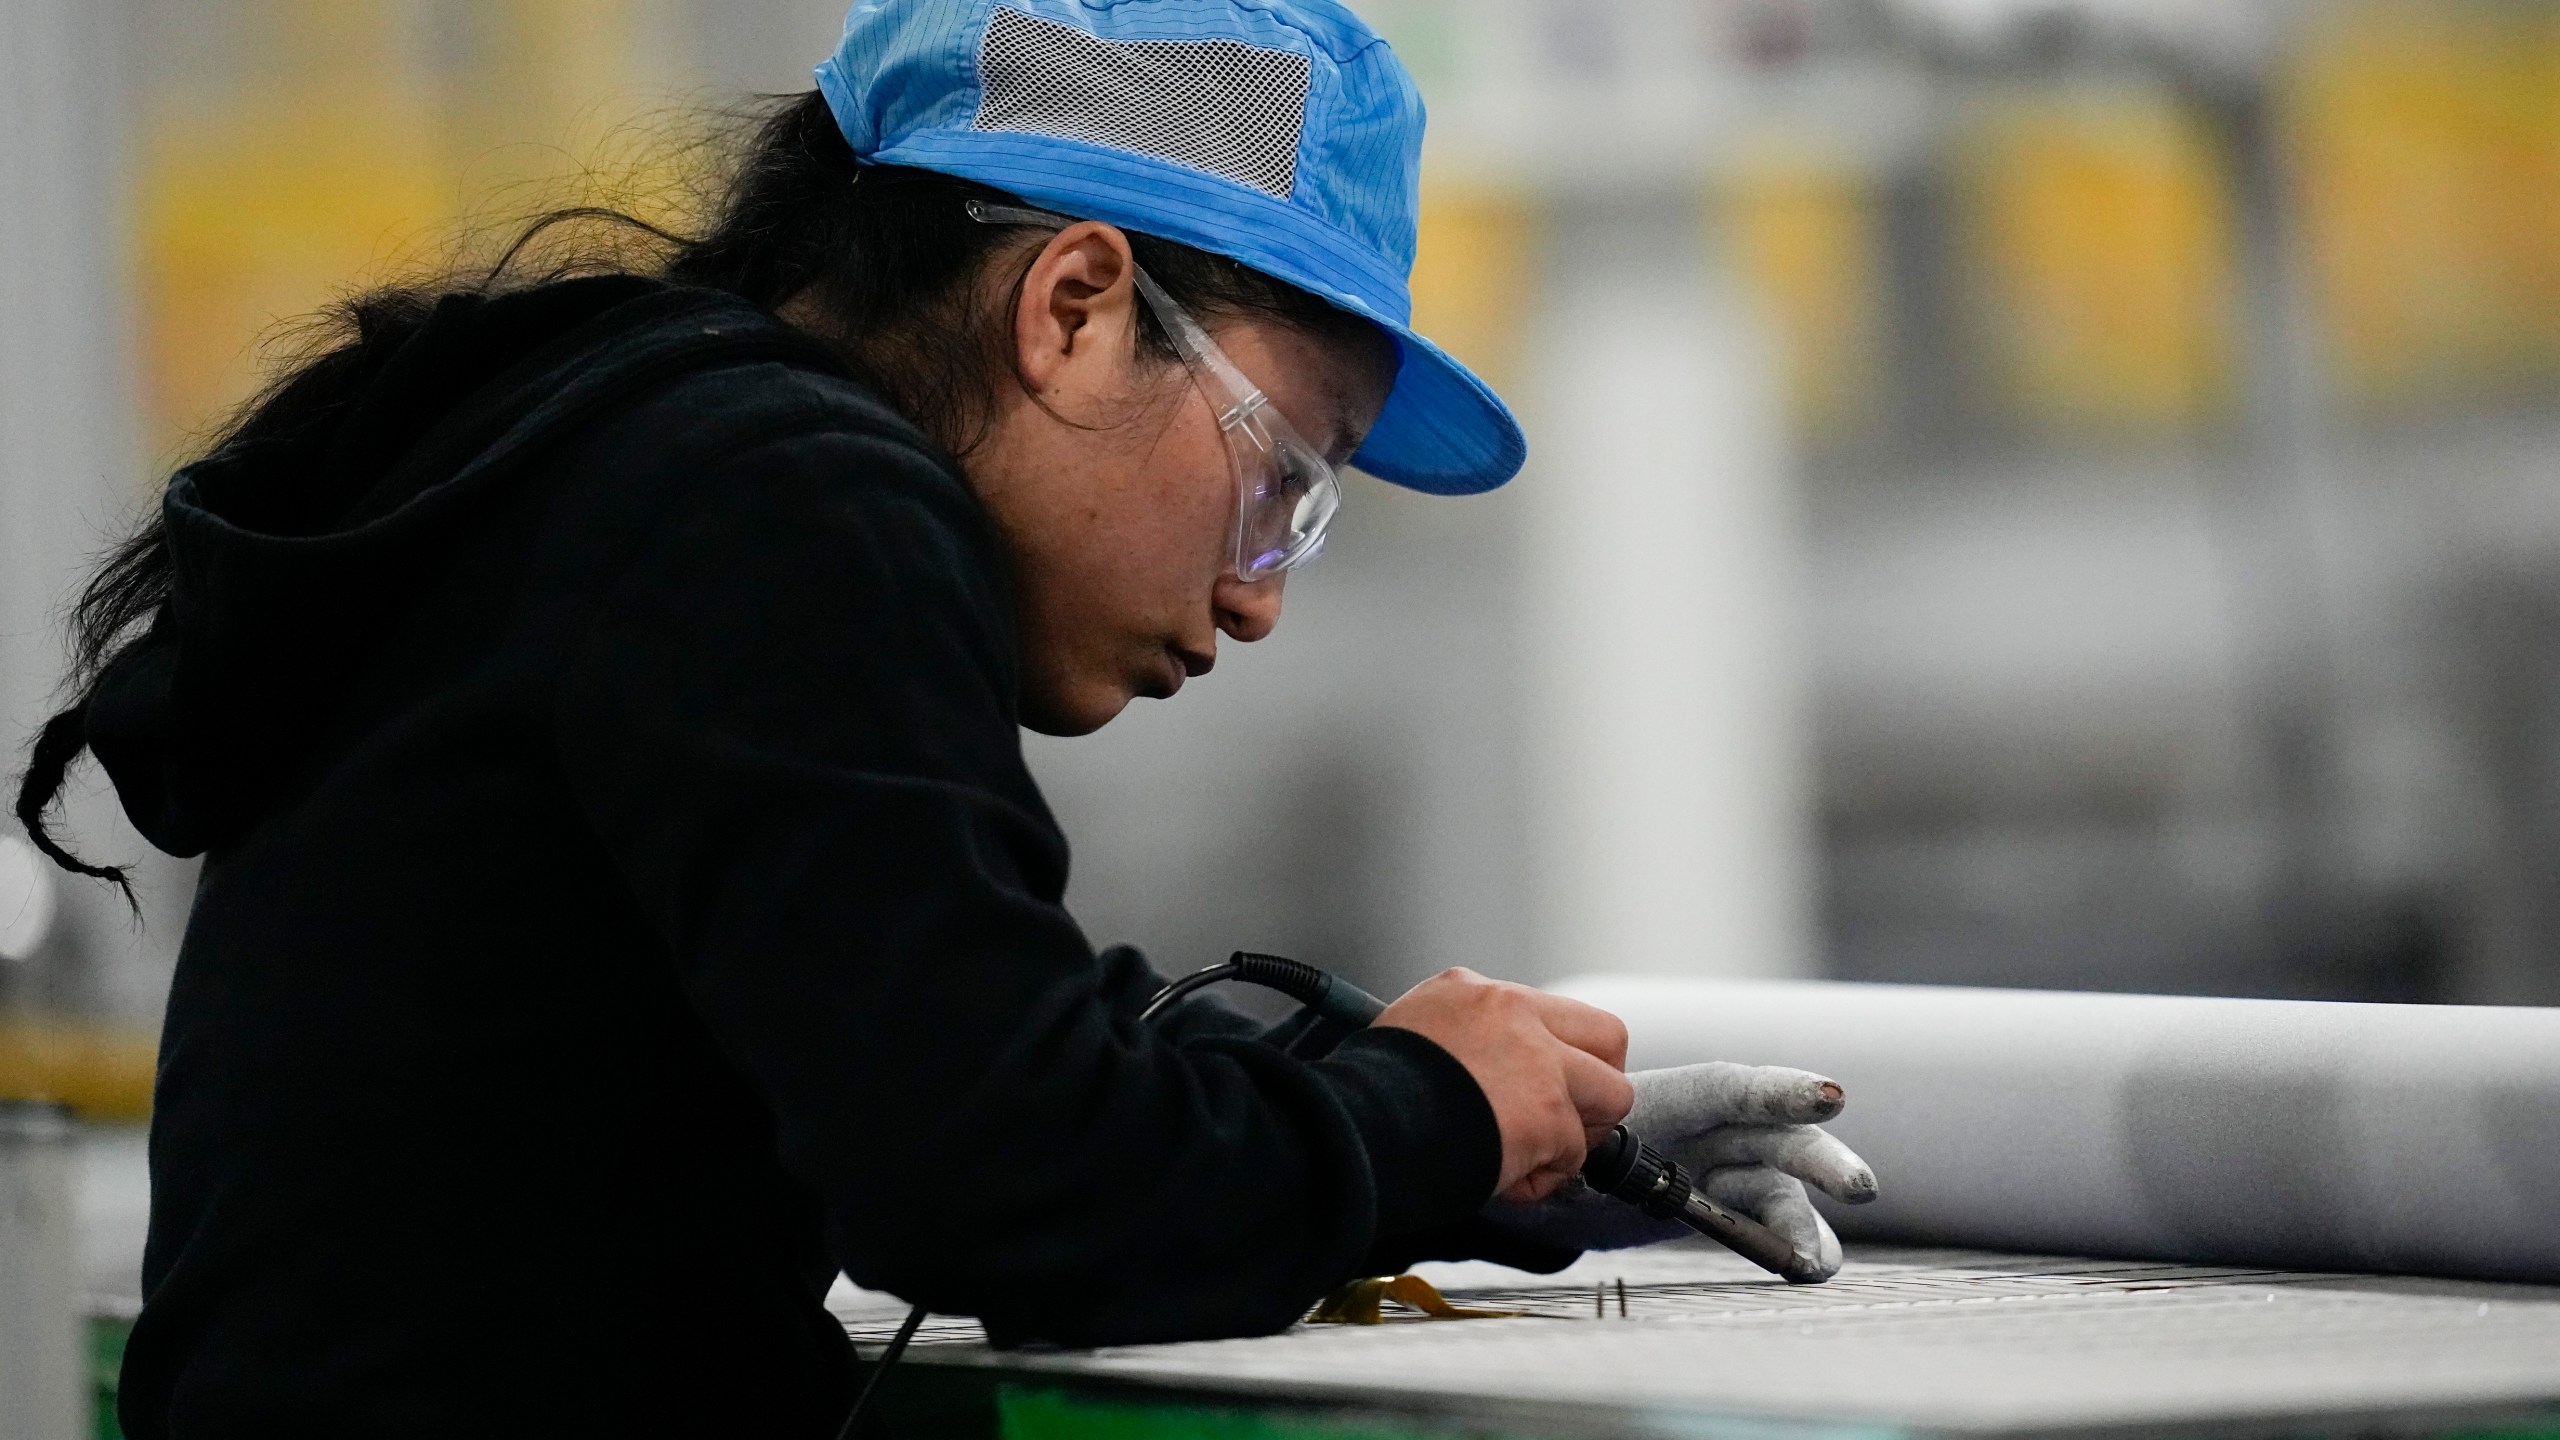
[[[978,41],[980,131],[1093,141],[1288,197],[1308,59],[1236,41],[1106,41],[998,8]]]

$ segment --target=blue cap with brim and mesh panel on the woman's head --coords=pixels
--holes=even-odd
[[[865,164],[1224,254],[1375,320],[1403,359],[1359,469],[1492,489],[1528,441],[1413,333],[1423,100],[1334,0],[868,0],[817,85]]]

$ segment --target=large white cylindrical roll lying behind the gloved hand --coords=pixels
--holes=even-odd
[[[1848,1238],[2560,1281],[2560,1010],[1585,976],[1628,1068],[1802,1066]]]

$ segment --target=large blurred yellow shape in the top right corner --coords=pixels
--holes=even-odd
[[[2401,407],[2560,379],[2560,10],[2330,10],[2284,97],[2340,392]]]

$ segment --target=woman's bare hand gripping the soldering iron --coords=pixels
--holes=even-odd
[[[1441,971],[1377,1017],[1428,1035],[1467,1066],[1503,1130],[1503,1199],[1546,1199],[1582,1174],[1592,1140],[1626,1120],[1626,1022],[1580,999]]]

